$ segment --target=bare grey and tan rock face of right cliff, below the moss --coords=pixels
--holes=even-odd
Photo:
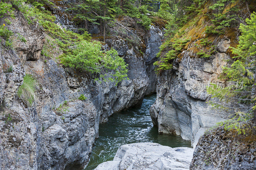
[[[192,58],[184,52],[172,70],[162,72],[157,79],[157,98],[150,108],[152,122],[159,133],[180,135],[195,146],[204,130],[224,121],[228,114],[212,109],[206,102],[211,99],[206,86],[218,81],[222,66],[229,58],[224,49],[230,40],[218,42],[217,53],[210,58]],[[226,50],[227,51],[227,50]]]

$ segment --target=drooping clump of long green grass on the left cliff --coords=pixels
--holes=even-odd
[[[28,107],[30,107],[36,99],[35,91],[37,87],[38,84],[32,75],[26,74],[23,78],[23,84],[18,88],[17,94]]]

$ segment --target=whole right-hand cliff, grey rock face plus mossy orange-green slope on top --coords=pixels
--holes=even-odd
[[[231,17],[234,22],[221,27],[216,13],[230,17],[230,9],[234,8],[239,9],[234,16],[246,18],[253,10],[253,3],[221,1],[222,8],[215,9],[213,6],[220,1],[202,1],[197,7],[197,2],[193,2],[191,8],[200,12],[188,12],[189,19],[176,32],[172,30],[175,28],[169,28],[158,54],[157,99],[150,108],[150,115],[159,133],[180,135],[195,147],[205,129],[228,119],[228,113],[209,105],[209,101],[219,101],[213,99],[206,88],[211,83],[219,87],[227,83],[222,67],[234,62],[229,47],[237,46],[238,27],[244,22]]]

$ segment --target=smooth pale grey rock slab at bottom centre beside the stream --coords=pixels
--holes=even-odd
[[[101,163],[95,170],[178,170],[188,169],[193,149],[171,148],[156,143],[122,145],[113,161]]]

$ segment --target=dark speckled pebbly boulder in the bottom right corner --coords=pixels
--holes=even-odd
[[[255,169],[255,135],[237,135],[224,127],[207,131],[198,141],[190,169]]]

